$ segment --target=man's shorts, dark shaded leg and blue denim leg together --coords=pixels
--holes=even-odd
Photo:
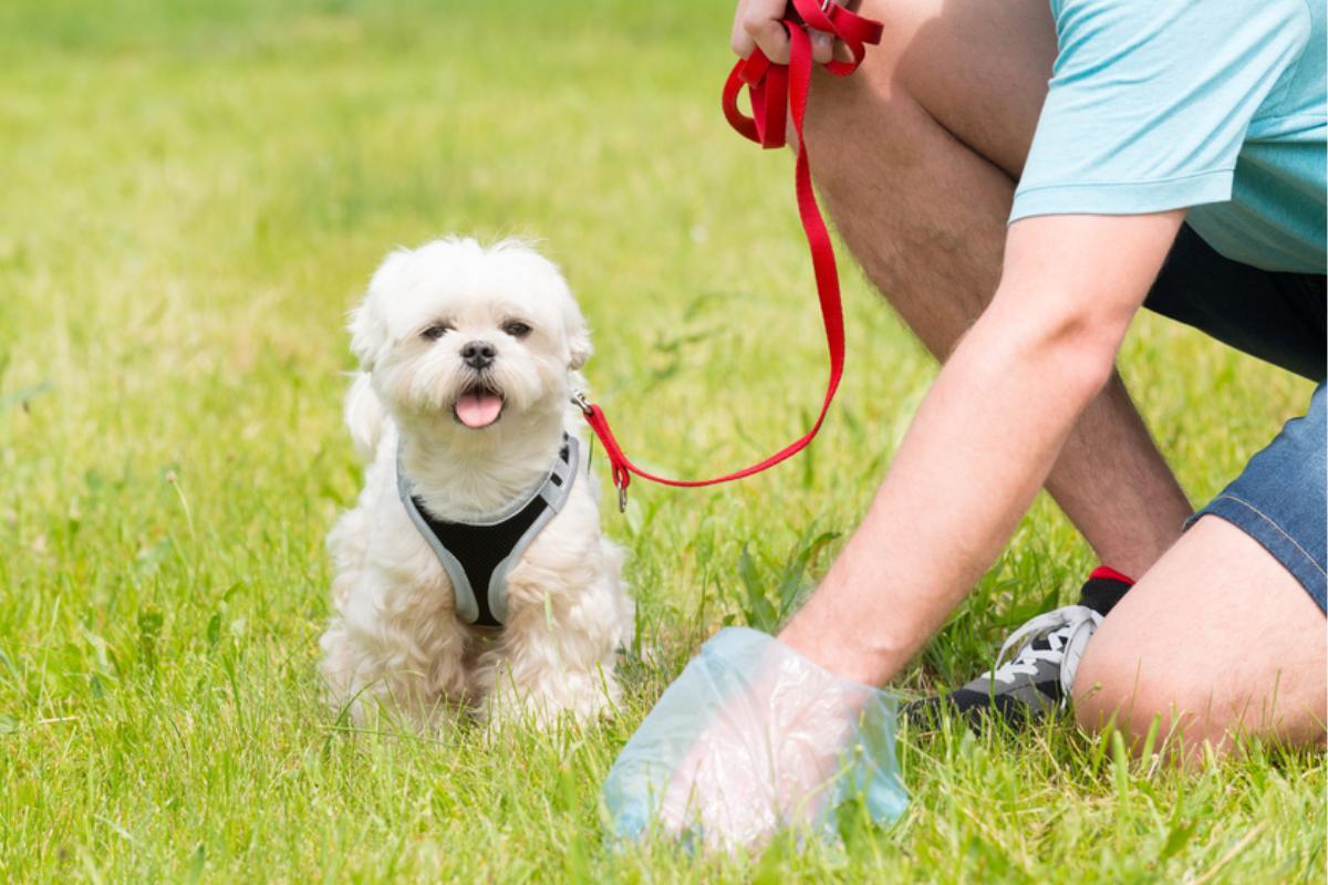
[[[1319,382],[1305,414],[1288,421],[1186,527],[1206,513],[1232,523],[1272,553],[1320,610],[1328,612],[1325,277],[1232,261],[1185,226],[1143,306]]]

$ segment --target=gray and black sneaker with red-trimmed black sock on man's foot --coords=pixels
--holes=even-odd
[[[935,724],[948,711],[972,726],[987,716],[1019,726],[1064,710],[1084,647],[1131,584],[1114,569],[1096,569],[1078,605],[1032,618],[1005,640],[991,670],[950,694],[908,705],[906,715]]]

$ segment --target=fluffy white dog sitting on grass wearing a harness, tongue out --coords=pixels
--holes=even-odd
[[[420,724],[595,716],[633,614],[576,435],[591,345],[558,268],[515,241],[398,249],[351,336],[345,421],[368,468],[328,535],[329,701]]]

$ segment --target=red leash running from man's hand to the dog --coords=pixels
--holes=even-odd
[[[724,84],[724,115],[740,135],[757,142],[761,147],[782,147],[786,142],[786,123],[793,119],[793,131],[798,137],[798,159],[794,167],[793,186],[798,199],[798,216],[807,236],[811,251],[811,268],[815,272],[817,297],[821,300],[821,321],[825,325],[826,348],[830,352],[830,378],[826,397],[821,403],[821,414],[815,423],[799,439],[789,443],[765,460],[750,467],[714,476],[713,479],[668,479],[656,476],[633,464],[608,427],[604,410],[576,395],[576,405],[586,414],[586,422],[599,437],[608,463],[612,468],[614,486],[618,487],[619,510],[627,508],[627,487],[632,474],[664,486],[714,486],[742,479],[768,470],[781,460],[795,455],[821,430],[830,402],[834,399],[839,379],[843,377],[843,306],[839,299],[839,275],[835,269],[834,248],[830,245],[830,232],[826,230],[815,192],[811,190],[811,166],[807,147],[802,141],[802,119],[807,109],[807,92],[811,85],[811,38],[807,28],[834,34],[849,48],[853,61],[830,61],[826,70],[846,77],[858,69],[867,53],[866,44],[880,42],[879,21],[872,21],[849,12],[833,0],[791,0],[793,11],[784,20],[789,32],[789,64],[776,65],[760,49],[749,58],[738,61],[728,82]],[[746,86],[752,101],[752,117],[738,110],[738,93]]]

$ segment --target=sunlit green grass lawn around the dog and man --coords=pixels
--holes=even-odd
[[[357,488],[343,322],[392,245],[540,236],[647,464],[730,467],[807,419],[823,356],[789,159],[720,117],[728,7],[0,9],[0,880],[1323,881],[1321,755],[1182,775],[1068,724],[906,732],[908,813],[842,848],[604,848],[618,748],[716,625],[770,616],[740,573],[776,604],[798,540],[853,525],[934,375],[853,271],[850,374],[810,455],[606,513],[663,650],[628,661],[616,718],[333,727],[315,640]],[[1123,366],[1197,500],[1308,398],[1147,317]],[[1090,565],[1038,502],[900,691],[971,675]]]

